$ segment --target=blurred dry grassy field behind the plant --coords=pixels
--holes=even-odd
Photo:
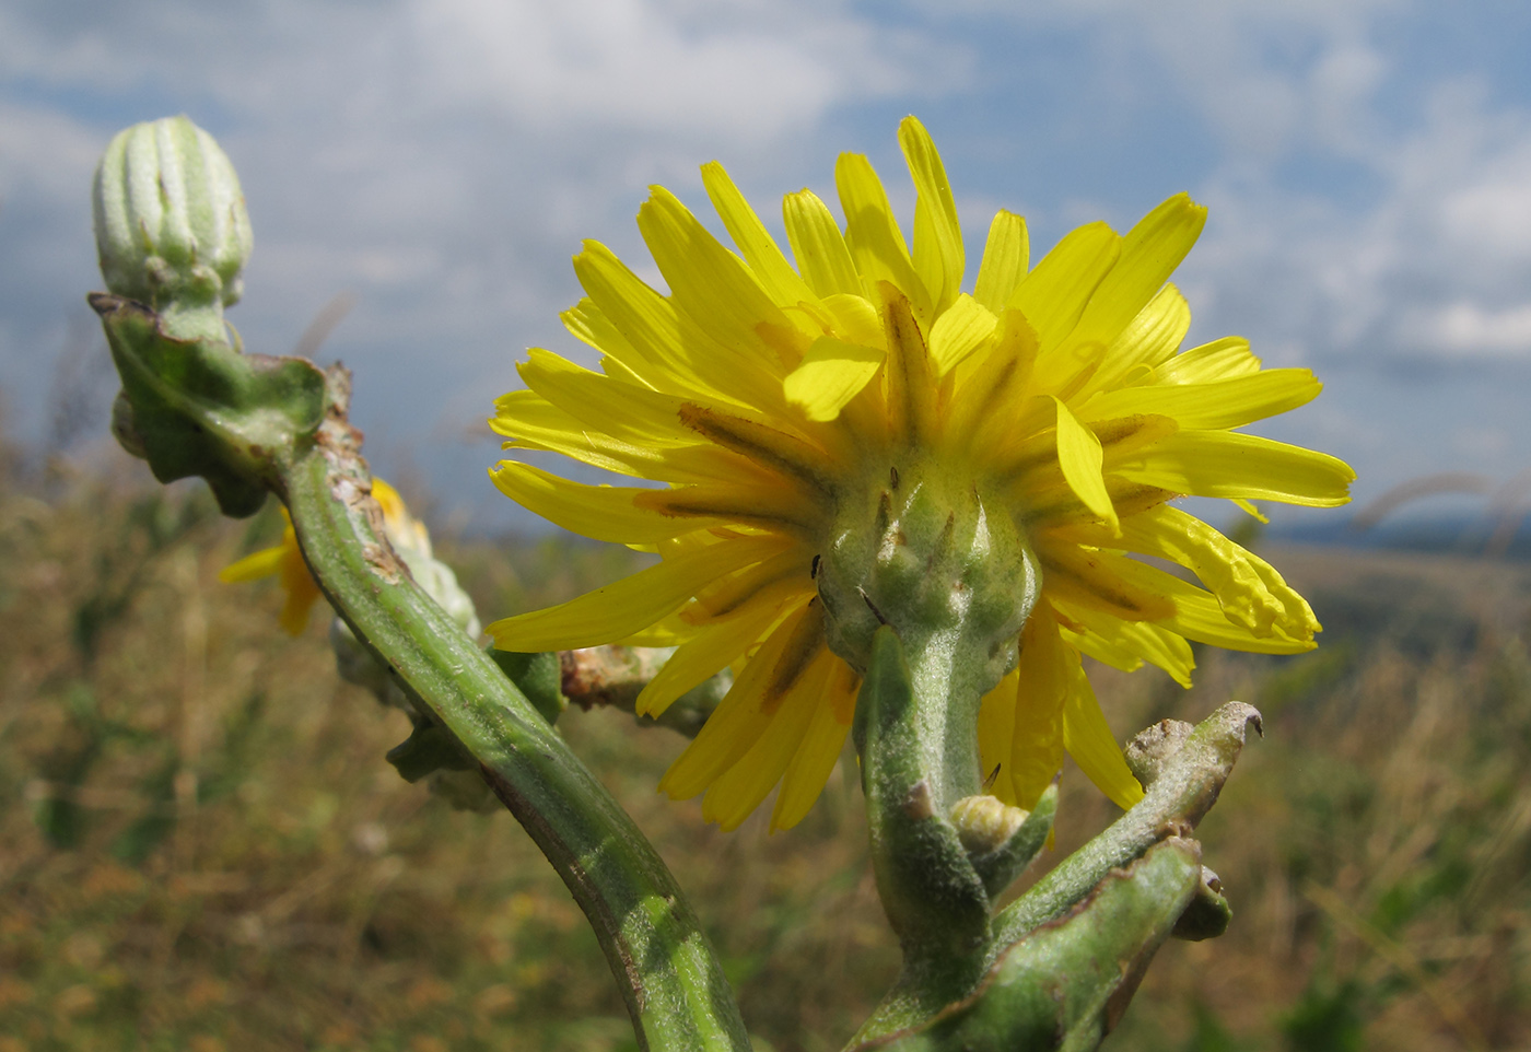
[[[217,518],[141,466],[0,455],[0,1052],[619,1049],[594,937],[504,815],[383,753],[406,720],[341,683],[320,617],[220,567],[280,521]],[[413,496],[407,493],[406,496]],[[631,567],[620,548],[439,537],[481,613]],[[1107,1047],[1531,1046],[1531,573],[1462,554],[1268,553],[1317,652],[1206,652],[1194,691],[1095,669],[1113,727],[1260,706],[1202,827],[1234,903],[1170,943]],[[834,1049],[893,978],[854,764],[796,830],[738,833],[654,784],[683,741],[614,712],[562,732],[695,896],[762,1049]],[[1112,819],[1064,778],[1058,853]]]

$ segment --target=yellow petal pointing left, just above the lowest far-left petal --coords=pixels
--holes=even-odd
[[[521,461],[501,461],[488,476],[495,488],[533,515],[596,541],[654,544],[717,524],[717,519],[675,519],[634,504],[652,490],[583,485]]]

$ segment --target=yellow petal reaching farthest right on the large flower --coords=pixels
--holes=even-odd
[[[1332,508],[1350,499],[1344,461],[1257,435],[1190,430],[1164,438],[1110,469],[1125,479],[1193,496],[1281,501]]]

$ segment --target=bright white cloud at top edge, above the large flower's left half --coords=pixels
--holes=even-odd
[[[409,20],[432,86],[540,129],[592,123],[775,138],[903,80],[873,32],[801,5],[695,11],[651,0],[418,0]]]

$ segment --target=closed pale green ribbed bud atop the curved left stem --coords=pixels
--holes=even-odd
[[[107,289],[156,311],[239,300],[253,243],[245,196],[228,156],[188,118],[119,132],[93,199]]]

